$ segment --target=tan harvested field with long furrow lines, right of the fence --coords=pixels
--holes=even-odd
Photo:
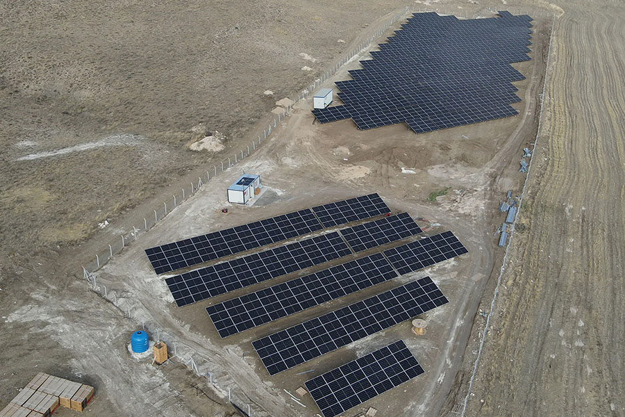
[[[623,8],[561,6],[522,228],[467,416],[625,415]]]

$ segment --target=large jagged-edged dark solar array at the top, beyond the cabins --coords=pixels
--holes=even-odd
[[[458,20],[415,13],[352,80],[336,83],[342,106],[313,110],[322,123],[351,118],[358,129],[406,122],[417,133],[516,115],[510,63],[529,60],[531,17]]]

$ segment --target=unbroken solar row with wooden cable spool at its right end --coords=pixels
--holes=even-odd
[[[271,375],[447,303],[430,277],[253,341]]]

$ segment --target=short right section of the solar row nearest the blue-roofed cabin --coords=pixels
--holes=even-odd
[[[377,193],[313,207],[324,227],[338,226],[390,213],[390,208]]]

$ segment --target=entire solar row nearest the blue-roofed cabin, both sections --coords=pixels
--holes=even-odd
[[[319,216],[315,216],[313,211]],[[295,211],[145,250],[157,274],[198,265],[313,231],[390,212],[377,194]],[[322,222],[319,222],[319,219]]]

